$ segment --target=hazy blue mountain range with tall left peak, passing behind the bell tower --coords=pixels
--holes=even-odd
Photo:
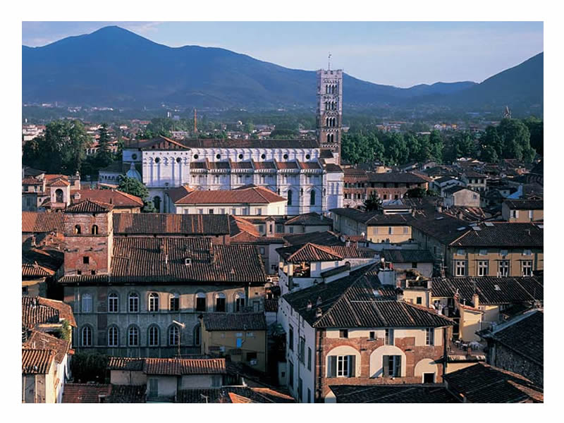
[[[314,106],[316,74],[226,49],[167,47],[113,26],[44,47],[23,46],[22,82],[25,103],[271,109]],[[346,105],[374,106],[443,102],[477,84],[398,88],[345,74],[343,86]]]

